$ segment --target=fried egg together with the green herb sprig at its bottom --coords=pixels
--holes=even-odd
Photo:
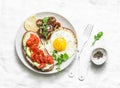
[[[51,38],[45,43],[45,48],[53,56],[58,71],[60,65],[74,55],[76,47],[77,38],[74,32],[65,27],[53,31]]]

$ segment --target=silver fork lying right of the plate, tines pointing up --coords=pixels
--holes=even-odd
[[[88,24],[87,27],[85,28],[84,32],[83,32],[82,41],[81,41],[81,45],[79,45],[79,47],[78,47],[78,51],[79,52],[77,52],[77,57],[75,59],[75,64],[73,65],[73,68],[68,73],[68,76],[70,78],[74,77],[74,75],[75,75],[75,68],[79,66],[78,62],[79,62],[79,59],[80,59],[80,54],[83,51],[85,44],[89,40],[89,37],[90,37],[91,32],[92,32],[92,29],[93,29],[93,26]],[[79,79],[83,80],[83,76],[79,76]]]

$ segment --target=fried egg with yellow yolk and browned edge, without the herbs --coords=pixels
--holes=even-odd
[[[58,55],[67,53],[71,57],[77,49],[76,35],[72,30],[60,27],[53,31],[51,38],[45,43],[45,48],[50,55],[53,50],[57,50]]]

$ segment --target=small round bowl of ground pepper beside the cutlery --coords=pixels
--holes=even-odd
[[[104,48],[96,48],[92,51],[91,61],[95,65],[102,65],[108,58],[107,51]]]

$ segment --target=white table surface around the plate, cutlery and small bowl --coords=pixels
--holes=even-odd
[[[54,75],[40,75],[27,69],[16,55],[15,36],[28,16],[44,11],[66,17],[79,40],[87,24],[94,25],[94,31],[103,31],[107,62],[101,67],[89,62],[88,74],[82,82],[77,75],[68,77],[74,64]],[[86,47],[83,59],[88,51]],[[120,0],[0,0],[0,88],[120,88]]]

